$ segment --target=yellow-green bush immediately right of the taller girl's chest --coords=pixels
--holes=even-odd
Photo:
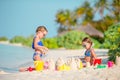
[[[45,38],[42,40],[44,46],[46,46],[47,48],[50,49],[56,49],[58,48],[58,44],[57,44],[57,38]]]

